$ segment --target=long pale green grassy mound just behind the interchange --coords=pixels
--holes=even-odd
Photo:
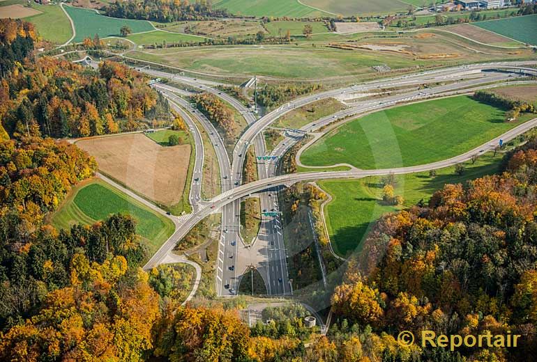
[[[398,69],[434,63],[391,54],[311,47],[204,47],[188,51],[174,48],[151,53],[130,52],[128,55],[211,74],[256,74],[299,79],[372,73],[371,67],[381,64]]]

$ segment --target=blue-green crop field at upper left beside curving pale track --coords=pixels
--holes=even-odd
[[[87,37],[93,38],[95,34],[98,34],[100,38],[119,36],[119,29],[123,25],[129,26],[133,33],[155,29],[150,22],[145,20],[116,19],[100,15],[93,10],[73,8],[73,6],[66,6],[65,9],[75,23],[77,33],[75,42],[81,42]]]

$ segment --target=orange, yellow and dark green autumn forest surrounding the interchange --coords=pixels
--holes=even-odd
[[[225,15],[209,3],[165,3],[116,2],[107,13],[162,21]],[[537,139],[507,152],[497,175],[446,184],[428,203],[375,223],[362,252],[342,263],[326,335],[305,328],[300,308],[269,310],[272,323],[248,326],[237,308],[245,301],[199,297],[182,306],[170,286],[181,276],[165,267],[144,271],[151,255],[128,214],[70,230],[50,225],[69,191],[98,169],[69,139],[169,126],[175,116],[144,74],[114,61],[94,69],[36,56],[38,41],[31,24],[0,19],[0,361],[455,362],[537,355]],[[269,107],[320,88],[265,86],[259,102]],[[236,136],[227,104],[209,93],[192,99],[227,138]],[[175,128],[185,131],[183,120]],[[285,194],[296,205],[297,192]],[[315,192],[305,191],[312,203],[320,200]],[[296,233],[305,237],[298,227]],[[523,337],[517,348],[454,352],[396,340],[399,331],[423,329]]]

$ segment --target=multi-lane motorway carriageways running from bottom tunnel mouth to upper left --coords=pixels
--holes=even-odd
[[[158,73],[163,77],[162,72]],[[245,107],[241,102],[234,97],[222,93],[215,88],[207,87],[204,84],[197,84],[195,81],[186,81],[186,84],[198,88],[214,95],[221,97],[223,100],[232,105],[245,118],[248,125],[255,123],[257,118]],[[180,104],[185,107],[204,126],[207,132],[215,134],[214,127],[206,120],[204,116],[197,112],[191,105],[178,97],[177,88],[165,84],[156,84],[156,88],[165,94],[173,104]],[[183,111],[182,116],[188,117]],[[192,129],[192,127],[190,127]],[[225,157],[227,154],[223,147],[221,139],[217,141],[211,140],[215,146],[215,152],[218,154],[220,173],[225,175],[222,182],[229,187],[236,187],[242,183],[243,178],[243,160],[244,153],[234,152],[232,161],[232,171],[228,173],[227,162]],[[264,156],[266,153],[265,143],[262,136],[259,134],[254,140],[255,155]],[[226,178],[227,175],[231,177]],[[269,173],[266,165],[262,162],[257,164],[257,175],[259,179],[275,175]],[[229,181],[229,182],[228,182]],[[192,184],[199,187],[199,183]],[[278,210],[278,194],[271,191],[260,192],[256,197],[259,197],[260,207],[262,210]],[[216,288],[220,295],[236,294],[237,286],[240,277],[246,268],[256,267],[259,273],[264,278],[269,294],[289,294],[291,287],[289,285],[289,274],[287,272],[287,260],[285,255],[285,245],[283,241],[282,222],[280,215],[274,217],[262,217],[261,228],[255,240],[243,240],[240,233],[240,201],[236,200],[232,205],[222,209],[222,231],[220,235],[220,245],[218,251],[218,267],[216,277]]]

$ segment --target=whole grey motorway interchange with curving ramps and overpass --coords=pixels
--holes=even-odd
[[[291,175],[277,175],[276,162],[257,163],[257,173],[259,180],[242,184],[242,171],[244,155],[248,148],[253,145],[255,155],[264,156],[266,148],[262,132],[272,125],[275,120],[285,115],[289,111],[305,104],[316,102],[328,97],[349,96],[349,93],[372,93],[384,88],[410,87],[407,91],[400,91],[395,95],[380,95],[375,100],[361,100],[358,98],[351,102],[347,109],[334,113],[331,116],[316,120],[301,127],[301,132],[287,131],[285,139],[281,141],[271,152],[275,157],[282,157],[289,148],[299,141],[305,132],[326,132],[333,123],[349,119],[351,116],[359,116],[370,111],[377,111],[393,107],[395,104],[408,102],[418,102],[433,97],[445,97],[457,93],[468,93],[476,89],[483,88],[485,84],[503,84],[506,81],[517,81],[523,74],[516,71],[522,70],[525,74],[535,74],[535,70],[527,68],[532,62],[501,62],[488,64],[464,65],[456,68],[432,70],[417,74],[403,75],[391,79],[381,79],[370,83],[348,86],[345,88],[324,91],[321,93],[307,95],[292,102],[282,105],[278,109],[267,113],[262,118],[257,119],[254,113],[241,102],[234,99],[227,93],[219,91],[214,82],[208,84],[206,81],[198,81],[190,77],[178,74],[169,74],[158,70],[142,68],[143,72],[153,77],[172,79],[174,82],[187,84],[199,91],[213,93],[231,104],[245,118],[248,127],[245,129],[239,141],[236,143],[230,160],[228,152],[225,150],[225,143],[218,134],[212,123],[205,116],[197,111],[192,105],[179,96],[181,92],[177,87],[156,84],[158,91],[164,94],[172,107],[186,120],[192,134],[194,134],[196,161],[194,173],[192,175],[192,186],[190,189],[190,203],[192,213],[181,217],[181,222],[176,222],[176,231],[165,244],[147,262],[145,268],[154,267],[167,257],[174,249],[175,244],[188,233],[199,221],[213,212],[222,212],[222,227],[220,244],[218,249],[217,273],[215,276],[216,290],[220,296],[233,296],[239,286],[239,281],[247,267],[256,267],[262,274],[267,286],[267,292],[273,295],[286,295],[292,293],[292,285],[289,284],[287,273],[287,256],[283,242],[282,221],[280,217],[263,217],[262,227],[255,242],[243,241],[240,234],[240,200],[245,196],[257,196],[261,201],[262,210],[278,210],[277,192],[273,190],[282,185],[290,186],[296,182],[314,181],[327,178],[363,178],[368,175],[386,175],[388,173],[413,173],[418,171],[428,171],[435,168],[443,168],[471,159],[475,155],[492,150],[498,144],[499,139],[508,141],[514,137],[527,132],[535,127],[537,120],[531,120],[498,139],[481,145],[479,148],[465,152],[464,155],[453,157],[441,162],[434,162],[421,166],[393,168],[388,170],[358,170],[351,168],[350,171],[319,171],[310,173],[297,173]],[[501,70],[502,72],[483,72],[483,70]],[[512,72],[511,72],[512,71]],[[433,86],[437,82],[446,84]],[[416,86],[429,84],[428,88],[417,90]],[[222,193],[211,200],[202,200],[202,168],[204,164],[204,145],[197,124],[209,134],[209,140],[213,146],[220,168],[220,182]],[[327,127],[328,126],[328,127]],[[297,155],[297,160],[300,153]]]

